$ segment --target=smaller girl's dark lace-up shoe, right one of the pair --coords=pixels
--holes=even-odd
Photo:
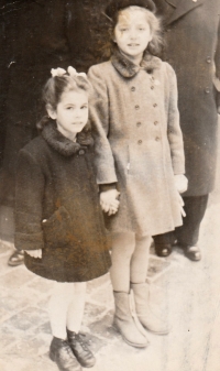
[[[87,348],[81,334],[67,330],[68,343],[72,348],[77,361],[85,368],[94,367],[96,358],[92,352]]]

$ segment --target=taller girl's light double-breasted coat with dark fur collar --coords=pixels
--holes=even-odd
[[[174,174],[185,172],[176,76],[146,54],[141,67],[116,50],[88,77],[96,97],[91,123],[99,184],[118,182],[112,231],[158,234],[182,225]]]

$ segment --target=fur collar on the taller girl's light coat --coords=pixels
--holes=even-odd
[[[114,47],[111,63],[123,77],[129,78],[135,76],[140,69],[145,69],[148,74],[152,74],[154,69],[161,67],[162,61],[145,52],[141,65],[138,66],[122,55],[118,47]]]

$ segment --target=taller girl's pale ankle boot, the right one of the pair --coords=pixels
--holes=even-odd
[[[150,308],[150,286],[147,283],[131,283],[134,294],[136,316],[147,330],[157,334],[168,334],[168,327],[164,320],[157,318]]]

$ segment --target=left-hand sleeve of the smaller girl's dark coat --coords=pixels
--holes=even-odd
[[[37,163],[25,150],[20,151],[15,185],[15,236],[18,250],[44,248],[42,201],[44,176]]]

